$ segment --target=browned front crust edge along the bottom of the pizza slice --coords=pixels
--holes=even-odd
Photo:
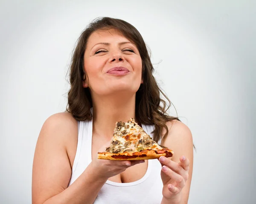
[[[140,152],[122,152],[122,153],[111,153],[111,152],[98,152],[98,159],[107,160],[145,160],[145,159],[156,159],[160,156],[172,157],[173,151],[171,149],[161,149],[161,153],[157,153],[154,149],[145,149]]]

